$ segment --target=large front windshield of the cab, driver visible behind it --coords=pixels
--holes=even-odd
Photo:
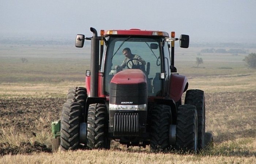
[[[118,71],[141,69],[147,77],[148,95],[158,95],[161,90],[159,42],[159,38],[110,38],[105,59],[106,94],[109,94],[110,81]],[[129,51],[131,55],[126,56]],[[129,59],[134,60],[129,62]]]

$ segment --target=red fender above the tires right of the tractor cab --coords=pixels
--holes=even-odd
[[[177,102],[181,99],[182,93],[188,89],[188,79],[182,75],[172,74],[170,85],[170,97]]]

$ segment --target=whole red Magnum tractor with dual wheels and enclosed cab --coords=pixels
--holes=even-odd
[[[188,79],[174,67],[174,42],[188,48],[188,35],[130,29],[98,36],[90,30],[91,38],[76,36],[76,47],[91,40],[86,87],[69,89],[61,119],[52,123],[53,152],[59,146],[109,149],[111,140],[150,145],[154,152],[197,152],[212,144],[205,133],[204,91],[187,90]]]

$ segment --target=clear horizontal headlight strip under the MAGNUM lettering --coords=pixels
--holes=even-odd
[[[147,110],[147,104],[142,104],[142,105],[109,104],[109,110]]]

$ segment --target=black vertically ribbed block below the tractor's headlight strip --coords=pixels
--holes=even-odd
[[[114,136],[139,136],[138,113],[116,113],[114,115]]]

